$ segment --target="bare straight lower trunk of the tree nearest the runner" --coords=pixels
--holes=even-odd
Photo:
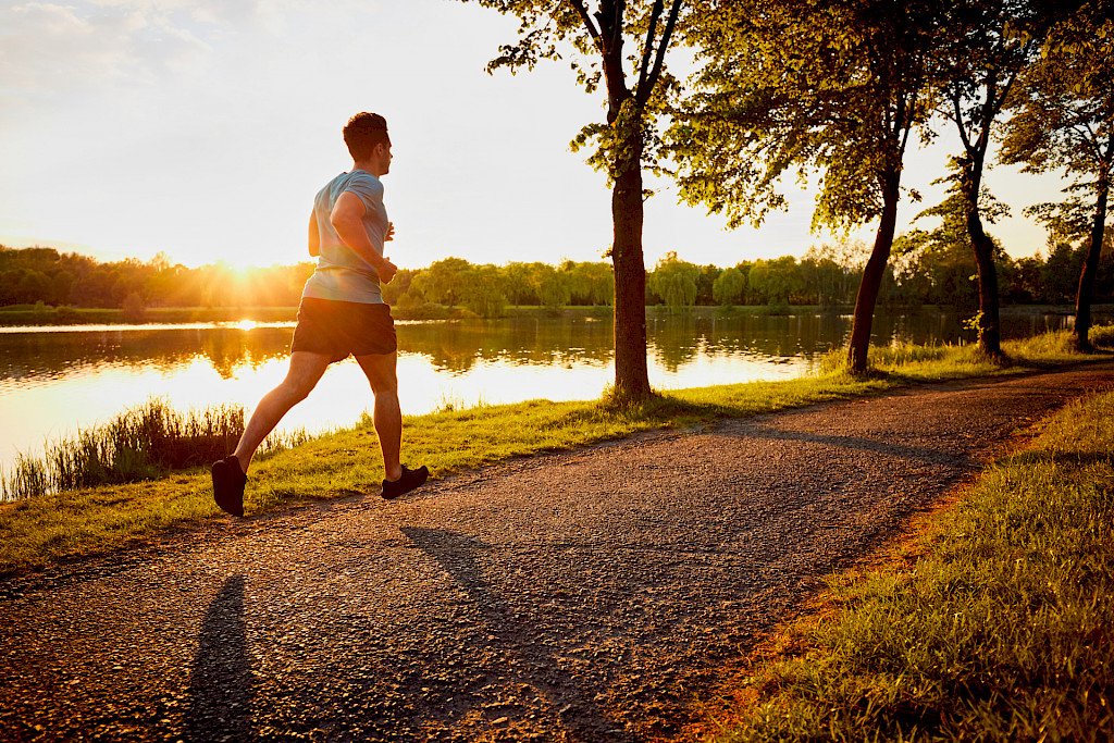
[[[649,395],[646,368],[646,264],[642,252],[643,201],[641,143],[631,143],[631,160],[618,168],[612,188],[612,265],[615,272],[615,394],[625,400]]]

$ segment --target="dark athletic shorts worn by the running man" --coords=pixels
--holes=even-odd
[[[320,353],[333,361],[398,349],[388,304],[303,296],[290,350]]]

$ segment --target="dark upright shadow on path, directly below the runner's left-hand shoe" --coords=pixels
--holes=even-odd
[[[202,624],[186,711],[187,741],[244,741],[253,735],[255,677],[244,630],[244,576],[225,580]]]

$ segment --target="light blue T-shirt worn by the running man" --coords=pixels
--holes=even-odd
[[[383,254],[383,239],[387,237],[389,224],[387,208],[383,206],[383,184],[364,170],[340,174],[313,198],[313,215],[317,222],[321,253],[317,256],[317,267],[305,282],[302,296],[383,304],[375,270],[344,244],[329,221],[336,199],[345,190],[352,192],[363,202],[367,208],[363,215],[363,228],[372,246],[380,255]]]

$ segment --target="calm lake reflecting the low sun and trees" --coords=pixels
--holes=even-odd
[[[1066,310],[1003,315],[1006,338],[1067,326]],[[1096,322],[1110,315],[1096,314]],[[248,411],[285,375],[293,323],[0,329],[0,467],[152,397],[175,408],[238,403]],[[877,343],[960,339],[954,312],[879,315]],[[847,342],[850,315],[647,316],[657,390],[800,375]],[[536,398],[598,397],[614,379],[609,317],[400,322],[403,413]],[[371,392],[353,360],[333,364],[282,428],[350,426]]]

